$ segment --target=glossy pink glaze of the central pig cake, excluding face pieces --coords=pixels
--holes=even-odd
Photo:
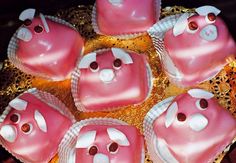
[[[115,60],[111,50],[97,53],[98,72],[89,68],[80,69],[78,98],[88,111],[99,111],[108,108],[137,104],[145,100],[149,91],[147,61],[143,54],[129,53],[132,64],[124,64],[120,69],[113,68]],[[110,83],[99,78],[103,69],[111,69],[115,73]]]

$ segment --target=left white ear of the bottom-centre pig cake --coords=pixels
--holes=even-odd
[[[76,143],[76,148],[88,148],[93,144],[96,138],[96,131],[88,131],[84,134],[81,134]]]

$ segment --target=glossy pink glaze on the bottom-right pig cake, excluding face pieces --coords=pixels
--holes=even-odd
[[[153,124],[157,140],[165,140],[180,163],[212,162],[236,136],[236,121],[226,109],[211,98],[207,100],[206,110],[200,110],[196,107],[197,100],[189,94],[177,96],[172,104],[177,102],[178,113],[184,113],[186,120],[181,122],[176,118],[166,128],[166,111]],[[189,119],[196,113],[208,119],[208,125],[201,131],[189,127]]]

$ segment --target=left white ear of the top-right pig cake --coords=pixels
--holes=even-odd
[[[188,26],[188,14],[184,13],[176,22],[173,28],[174,36],[178,36],[184,32],[186,27]]]

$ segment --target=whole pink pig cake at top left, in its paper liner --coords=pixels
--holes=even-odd
[[[35,16],[34,9],[23,11],[23,25],[13,35],[10,61],[25,73],[50,80],[64,80],[83,53],[84,41],[69,23],[51,16]]]

